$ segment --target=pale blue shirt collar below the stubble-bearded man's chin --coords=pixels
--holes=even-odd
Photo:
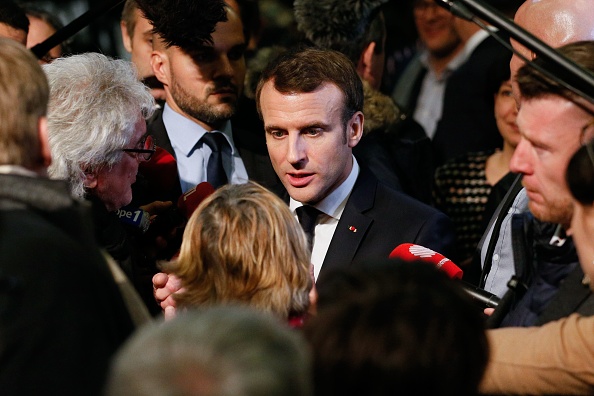
[[[167,103],[165,103],[165,107],[163,108],[163,124],[165,124],[165,129],[167,129],[167,135],[169,136],[171,145],[186,156],[190,156],[196,148],[196,143],[207,133],[207,130],[200,124],[177,113]],[[226,121],[223,124],[223,128],[217,129],[217,131],[225,136],[231,146],[231,155],[234,155],[235,144],[233,142],[231,121]]]

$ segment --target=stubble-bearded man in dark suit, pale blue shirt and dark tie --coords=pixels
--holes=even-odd
[[[246,43],[239,14],[220,1],[200,5],[190,0],[141,0],[138,4],[156,33],[151,64],[166,96],[148,131],[175,158],[177,172],[172,176],[179,178],[170,191],[163,192],[159,191],[162,186],[151,185],[149,176],[149,191],[158,193],[151,198],[176,200],[203,181],[220,185],[252,179],[282,192],[264,139],[255,137],[259,131],[240,131],[230,122],[245,76]],[[214,31],[202,32],[206,28],[195,23],[206,14],[214,22]],[[213,165],[215,156],[220,161]]]

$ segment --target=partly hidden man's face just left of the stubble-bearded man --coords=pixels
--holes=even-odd
[[[153,26],[148,19],[144,18],[139,9],[134,11],[136,24],[134,31],[128,32],[126,25],[122,22],[122,38],[126,50],[130,53],[130,60],[138,70],[138,76],[143,79],[153,76],[151,67],[151,53],[153,52]]]

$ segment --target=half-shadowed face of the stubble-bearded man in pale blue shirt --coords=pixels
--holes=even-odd
[[[163,74],[155,70],[157,78],[165,84],[167,103],[209,130],[231,118],[245,77],[241,20],[233,11],[227,16],[227,22],[216,25],[213,46],[194,52],[170,47],[165,50]]]

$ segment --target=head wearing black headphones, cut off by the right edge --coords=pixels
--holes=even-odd
[[[571,158],[565,180],[574,203],[570,234],[582,269],[591,280],[590,288],[594,288],[594,140],[580,147]]]

